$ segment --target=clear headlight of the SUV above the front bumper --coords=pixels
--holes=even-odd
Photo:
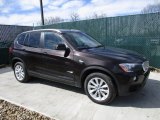
[[[136,65],[137,65],[136,63],[122,63],[122,64],[119,64],[119,66],[125,72],[133,72]]]

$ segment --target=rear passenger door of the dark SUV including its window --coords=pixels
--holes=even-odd
[[[40,73],[41,61],[41,32],[27,33],[24,41],[25,59],[30,74]]]

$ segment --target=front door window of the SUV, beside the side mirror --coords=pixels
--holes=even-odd
[[[60,43],[63,41],[58,35],[53,32],[44,32],[44,48],[55,50]]]

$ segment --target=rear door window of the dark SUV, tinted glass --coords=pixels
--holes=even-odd
[[[29,47],[38,48],[39,43],[40,43],[40,36],[41,36],[41,33],[39,33],[39,32],[30,33],[29,38],[28,38],[28,44],[27,43],[25,43],[25,44],[27,44]]]

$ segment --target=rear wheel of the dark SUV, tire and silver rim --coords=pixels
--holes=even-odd
[[[29,76],[26,71],[25,65],[22,62],[17,62],[14,65],[14,75],[17,81],[25,83],[29,81]]]

